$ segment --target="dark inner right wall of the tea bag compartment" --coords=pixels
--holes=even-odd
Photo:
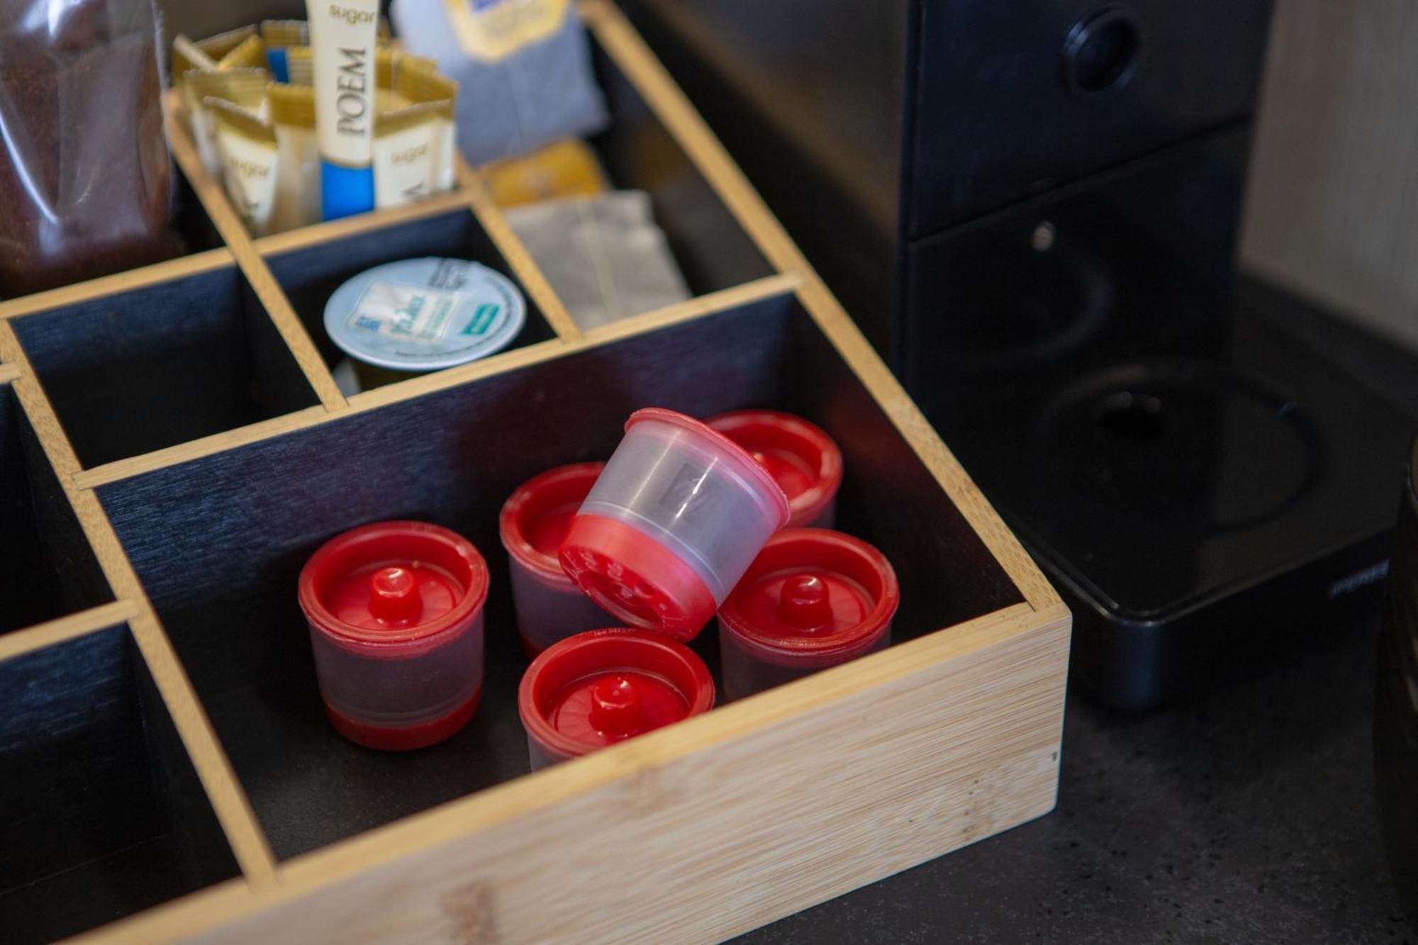
[[[611,122],[590,145],[611,186],[651,196],[655,223],[665,231],[689,291],[703,295],[771,275],[773,267],[729,207],[596,43],[591,62]]]

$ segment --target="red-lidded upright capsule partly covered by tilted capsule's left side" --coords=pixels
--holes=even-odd
[[[527,656],[614,617],[596,606],[562,570],[557,548],[604,463],[560,465],[523,482],[502,507],[499,531],[508,549],[512,606]]]

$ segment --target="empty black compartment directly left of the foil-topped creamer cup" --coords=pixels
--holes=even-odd
[[[13,324],[85,468],[318,403],[231,265]]]

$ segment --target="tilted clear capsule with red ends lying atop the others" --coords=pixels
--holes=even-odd
[[[562,566],[625,623],[689,640],[787,521],[783,490],[742,447],[681,413],[637,410]]]

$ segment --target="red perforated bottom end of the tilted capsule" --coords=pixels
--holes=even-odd
[[[614,518],[573,518],[560,556],[577,587],[603,610],[637,627],[693,640],[718,606],[689,563]]]

